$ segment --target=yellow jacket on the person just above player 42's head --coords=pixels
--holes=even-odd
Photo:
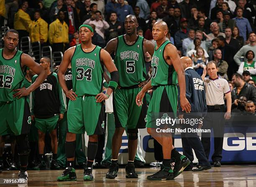
[[[14,29],[16,30],[26,30],[29,32],[28,25],[32,23],[29,15],[25,13],[22,9],[14,15]]]

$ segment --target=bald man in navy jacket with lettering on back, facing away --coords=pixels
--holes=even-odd
[[[207,112],[206,99],[205,99],[205,86],[200,75],[192,68],[192,60],[184,56],[181,58],[182,66],[185,71],[186,77],[186,98],[191,104],[191,113],[184,114],[183,118],[202,118]],[[186,127],[193,127],[190,124]],[[195,126],[197,128],[197,126]],[[209,160],[205,156],[205,151],[202,146],[202,142],[196,132],[184,132],[181,134],[182,137],[182,148],[184,155],[190,160],[189,166],[185,169],[191,171],[193,168],[193,152],[195,150],[195,155],[198,159],[198,166],[193,169],[193,172],[200,172],[206,169],[211,169]]]

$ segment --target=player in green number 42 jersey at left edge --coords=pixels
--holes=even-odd
[[[17,30],[7,30],[4,48],[0,49],[0,136],[16,135],[20,155],[19,181],[28,182],[27,164],[30,152],[28,133],[31,126],[28,95],[46,78],[46,72],[31,56],[16,50],[19,41]],[[38,74],[38,79],[28,88],[23,87],[26,67]]]

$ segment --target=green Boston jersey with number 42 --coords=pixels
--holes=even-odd
[[[3,48],[0,49],[0,101],[13,101],[13,90],[21,88],[25,78],[21,66],[20,56],[17,51],[11,59],[3,57]]]

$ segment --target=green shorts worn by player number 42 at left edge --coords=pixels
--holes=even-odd
[[[0,120],[0,136],[28,134],[31,127],[28,97],[0,102]]]

